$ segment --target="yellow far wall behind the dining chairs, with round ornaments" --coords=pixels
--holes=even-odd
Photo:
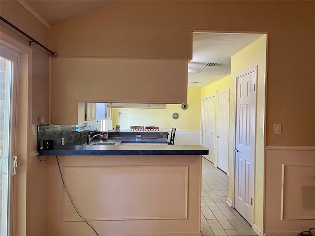
[[[130,129],[132,125],[159,126],[160,130],[200,130],[201,89],[189,88],[187,93],[188,108],[183,110],[181,104],[167,104],[166,109],[113,108],[113,126],[119,124],[121,129]],[[121,112],[121,116],[118,116]],[[173,113],[179,118],[173,119]]]

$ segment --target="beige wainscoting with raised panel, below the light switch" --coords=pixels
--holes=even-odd
[[[266,147],[265,236],[315,226],[315,147]]]

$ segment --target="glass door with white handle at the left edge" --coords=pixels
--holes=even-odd
[[[0,229],[1,235],[10,233],[13,176],[16,174],[15,155],[16,83],[19,55],[1,45],[0,49]]]

